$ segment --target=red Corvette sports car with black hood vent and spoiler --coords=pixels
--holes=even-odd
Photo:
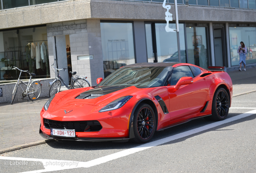
[[[150,141],[155,131],[205,117],[227,118],[232,81],[223,66],[177,62],[124,66],[96,87],[62,91],[41,111],[47,139]]]

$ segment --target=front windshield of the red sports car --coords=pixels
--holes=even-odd
[[[161,87],[165,84],[171,67],[138,66],[122,67],[105,78],[101,86]]]

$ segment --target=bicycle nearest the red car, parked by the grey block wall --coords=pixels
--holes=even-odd
[[[60,92],[61,82],[65,85],[67,89],[76,89],[76,88],[83,88],[83,87],[91,87],[88,80],[86,80],[87,76],[77,76],[74,78],[74,75],[76,72],[70,72],[71,73],[71,84],[67,85],[64,80],[61,78],[59,72],[61,70],[65,71],[67,68],[58,69],[54,67],[54,63],[51,65],[51,67],[55,68],[57,71],[57,77],[55,77],[55,80],[52,82],[52,86],[49,91],[49,96],[52,97],[55,94]]]

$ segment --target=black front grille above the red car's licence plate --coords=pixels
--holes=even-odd
[[[55,121],[43,119],[46,129],[70,129],[76,132],[100,131],[102,129],[99,121]]]

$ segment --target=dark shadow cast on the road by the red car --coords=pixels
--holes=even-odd
[[[232,113],[231,116],[229,116],[229,118],[234,117],[236,115],[240,115],[239,113]],[[186,139],[189,139],[191,137],[197,136],[197,135],[201,135],[203,133],[207,133],[210,131],[225,131],[225,130],[233,130],[233,129],[222,129],[225,127],[229,127],[231,125],[235,125],[238,123],[242,123],[245,121],[251,121],[253,119],[256,119],[256,114],[255,115],[251,115],[249,117],[245,117],[236,121],[232,121],[230,123],[226,123],[193,135],[190,135],[188,137],[183,137],[181,139],[176,139],[174,141],[170,141],[167,143],[164,143],[162,145],[168,145],[168,144],[172,144],[172,143],[179,143],[182,141],[185,141]],[[163,131],[156,131],[154,134],[153,139],[150,142],[153,141],[157,141],[157,140],[161,140],[163,138],[166,137],[170,137],[172,135],[176,135],[185,131],[189,131],[192,129],[196,129],[198,127],[202,127],[204,125],[209,125],[211,123],[214,123],[216,121],[207,121],[204,118],[200,118],[200,119],[195,119],[192,120],[188,123],[182,124],[182,125],[178,125],[175,127],[171,127],[169,129],[165,129]],[[81,151],[94,151],[94,150],[111,150],[111,149],[130,149],[132,147],[137,147],[140,146],[142,144],[138,144],[138,143],[131,143],[131,142],[126,142],[126,143],[114,143],[111,141],[108,142],[85,142],[85,141],[52,141],[47,143],[47,145],[49,145],[52,148],[55,149],[68,149],[68,150],[81,150]]]

